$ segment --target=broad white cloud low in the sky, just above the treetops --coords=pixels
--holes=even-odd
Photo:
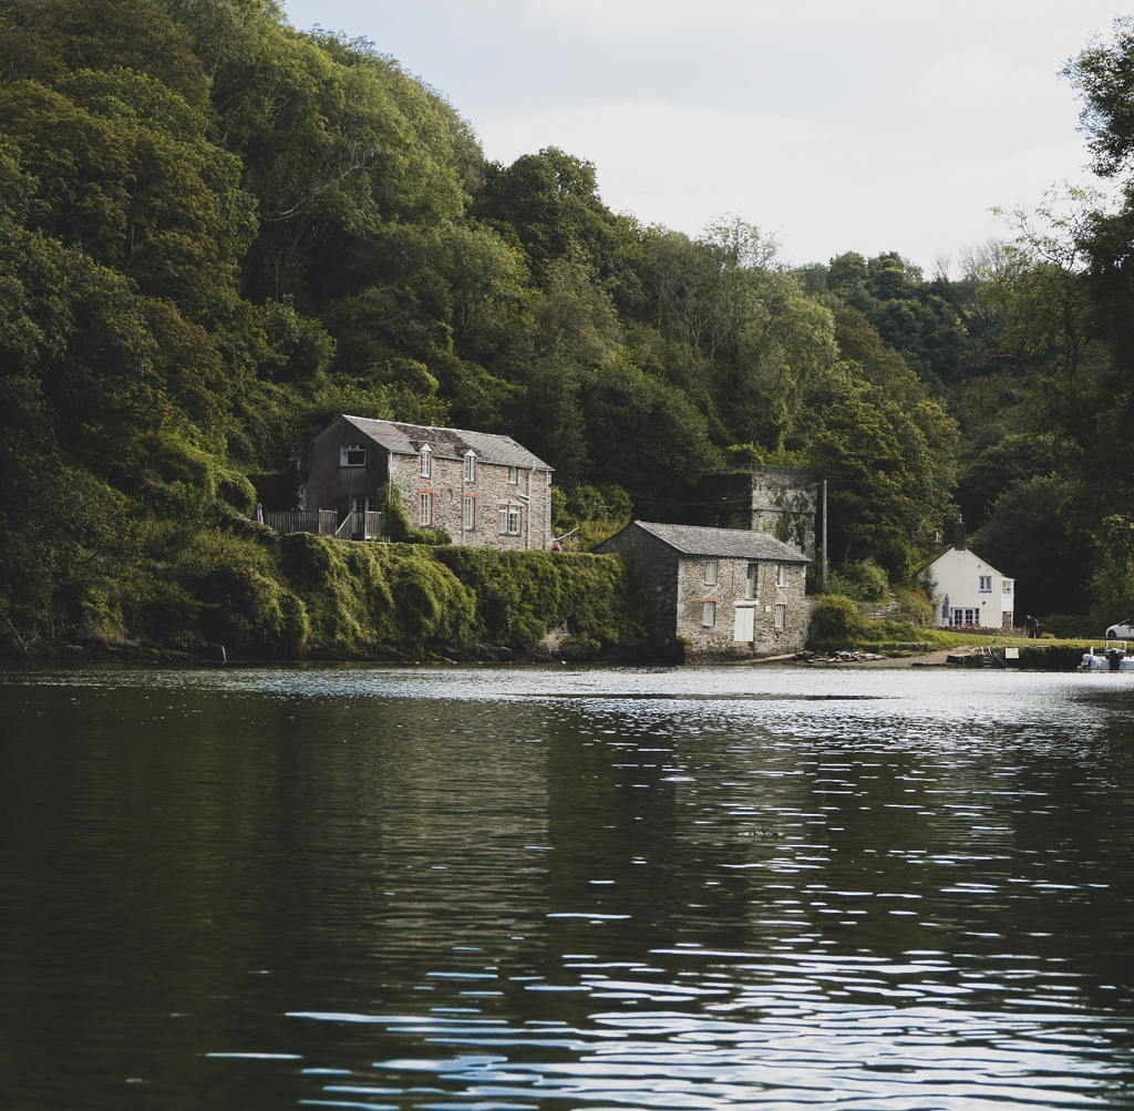
[[[993,205],[1034,203],[1082,161],[1076,141],[896,153],[814,120],[663,101],[516,116],[482,138],[505,162],[550,145],[591,159],[607,204],[646,224],[695,234],[735,212],[776,233],[795,262],[895,250],[926,269],[939,251],[1004,235]]]

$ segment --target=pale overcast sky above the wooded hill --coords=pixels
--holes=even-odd
[[[285,0],[443,92],[490,159],[560,146],[603,200],[696,234],[734,213],[796,263],[1007,235],[993,205],[1092,180],[1059,70],[1100,0]]]

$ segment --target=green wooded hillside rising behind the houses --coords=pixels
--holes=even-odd
[[[703,470],[764,462],[828,479],[833,566],[900,578],[959,506],[1033,608],[1082,613],[1092,546],[1128,552],[1128,465],[1105,498],[1076,485],[1129,429],[1102,404],[1131,396],[1106,313],[1128,214],[1090,224],[1090,281],[1034,244],[973,249],[959,280],[894,253],[793,268],[741,219],[610,211],[581,157],[486,161],[381,44],[262,0],[0,0],[0,78],[14,629],[254,623],[287,583],[246,519],[290,506],[289,456],[340,412],[515,435],[564,529],[665,520]]]

